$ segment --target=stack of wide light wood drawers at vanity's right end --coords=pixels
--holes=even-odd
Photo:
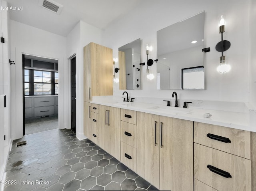
[[[252,191],[251,132],[194,122],[195,191]],[[210,188],[209,188],[210,189]]]

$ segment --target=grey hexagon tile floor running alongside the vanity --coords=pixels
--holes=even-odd
[[[27,145],[16,147],[24,140]],[[13,141],[6,172],[10,184],[4,191],[157,190],[89,139],[79,141],[71,129]]]

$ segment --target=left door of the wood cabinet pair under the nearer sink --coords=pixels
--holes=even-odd
[[[137,173],[159,188],[159,115],[137,111]]]

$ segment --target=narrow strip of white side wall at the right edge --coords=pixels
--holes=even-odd
[[[256,1],[250,1],[250,103],[256,108]]]

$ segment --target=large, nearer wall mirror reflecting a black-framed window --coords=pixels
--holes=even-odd
[[[157,89],[203,90],[204,12],[157,31]]]

